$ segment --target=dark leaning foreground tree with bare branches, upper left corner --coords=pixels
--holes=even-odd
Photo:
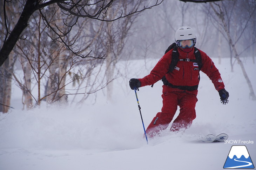
[[[4,16],[5,16],[5,21],[7,21],[6,18],[6,2],[10,2],[7,0],[4,0],[3,6],[4,6]],[[23,1],[24,2],[24,1]],[[161,1],[162,2],[162,1]],[[80,0],[78,2],[75,1],[65,1],[65,0],[51,0],[51,1],[39,1],[39,0],[26,0],[25,3],[23,4],[23,10],[20,15],[20,18],[18,22],[16,23],[15,27],[11,31],[10,28],[8,28],[8,25],[5,24],[6,28],[6,36],[4,39],[4,43],[1,47],[0,50],[0,66],[3,64],[3,62],[8,58],[9,53],[12,51],[14,45],[16,44],[17,40],[20,38],[20,35],[22,34],[23,30],[27,27],[29,18],[31,15],[39,10],[41,13],[43,8],[49,6],[49,5],[58,5],[61,10],[63,15],[69,15],[73,16],[74,19],[77,21],[78,18],[90,18],[90,19],[95,19],[95,20],[100,20],[100,21],[115,21],[117,19],[121,19],[123,17],[127,17],[131,14],[141,12],[145,9],[150,9],[153,6],[157,6],[161,4],[161,2],[156,1],[155,4],[150,5],[148,7],[142,7],[141,9],[131,9],[128,13],[124,14],[123,13],[123,7],[120,7],[119,9],[119,16],[116,18],[109,18],[108,17],[108,10],[115,6],[118,2],[115,0],[97,0],[96,2],[92,1],[87,1],[87,0]],[[46,22],[47,23],[47,22]],[[56,35],[58,36],[55,40],[58,40],[59,42],[62,42],[65,44],[66,48],[70,51],[72,51],[74,54],[77,56],[80,56],[82,58],[86,57],[93,57],[90,55],[90,52],[87,54],[82,54],[81,51],[73,50],[71,48],[72,44],[67,44],[63,37],[67,36],[69,32],[72,30],[73,26],[76,24],[73,23],[72,25],[67,25],[64,23],[69,29],[67,29],[66,32],[61,32],[58,34],[57,32]],[[50,28],[52,28],[49,25]],[[57,28],[58,29],[58,28]],[[54,29],[52,29],[54,30]],[[100,57],[96,57],[100,58]]]

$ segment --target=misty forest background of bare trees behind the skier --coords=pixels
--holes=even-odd
[[[1,3],[2,48],[25,2]],[[31,109],[42,102],[46,105],[93,104],[97,102],[97,92],[106,97],[106,102],[113,102],[113,81],[123,79],[122,85],[128,88],[128,81],[133,78],[126,75],[133,72],[129,61],[143,59],[145,65],[140,66],[141,69],[150,72],[152,66],[147,63],[163,56],[174,42],[176,29],[182,25],[196,30],[196,47],[211,58],[218,58],[218,64],[222,58],[229,58],[230,72],[233,72],[234,64],[238,63],[248,84],[250,99],[256,100],[243,65],[248,58],[255,64],[254,0],[93,2],[82,7],[53,3],[32,14],[0,67],[0,112],[7,113],[17,107]],[[69,10],[63,10],[67,7]],[[76,13],[80,16],[71,15],[74,7],[80,10]],[[88,13],[95,16],[84,17]],[[120,61],[125,64],[117,67]],[[22,106],[11,103],[13,86],[21,90]]]

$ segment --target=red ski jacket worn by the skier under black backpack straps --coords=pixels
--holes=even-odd
[[[161,80],[163,76],[166,76],[166,79],[173,84],[174,86],[196,86],[199,84],[199,69],[196,62],[191,61],[178,61],[175,69],[170,73],[169,65],[171,63],[172,51],[170,50],[157,62],[156,66],[150,72],[149,75],[145,76],[142,79],[139,79],[141,82],[141,87],[151,85]],[[224,83],[221,79],[221,75],[218,69],[215,67],[213,61],[207,56],[206,53],[199,50],[202,58],[202,68],[201,71],[204,72],[210,80],[213,82],[214,87],[217,91],[224,89]],[[195,60],[194,48],[189,52],[184,52],[178,48],[179,59],[190,59]],[[165,87],[165,85],[163,86]],[[168,87],[168,90],[171,91],[184,91],[178,88]],[[197,95],[197,90],[188,91],[187,93]],[[164,92],[164,91],[163,91]]]

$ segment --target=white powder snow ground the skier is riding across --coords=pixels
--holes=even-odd
[[[249,99],[248,85],[237,64],[231,73],[229,59],[222,59],[221,65],[217,59],[213,61],[229,91],[229,103],[220,103],[213,84],[201,73],[192,127],[184,134],[163,132],[161,138],[149,139],[148,145],[128,80],[115,80],[112,102],[104,101],[99,92],[94,105],[42,105],[29,111],[21,110],[20,90],[14,86],[11,105],[15,109],[0,114],[0,170],[217,170],[223,168],[233,145],[245,145],[256,163],[256,101]],[[128,78],[141,78],[157,60],[147,61],[146,66],[144,62],[131,61],[126,69],[120,64],[121,72]],[[255,64],[249,58],[243,62],[256,90]],[[161,110],[161,86],[157,82],[154,88],[138,91],[146,127]],[[229,140],[245,143],[197,140],[204,134],[222,132],[229,134]],[[254,143],[246,143],[249,141]]]

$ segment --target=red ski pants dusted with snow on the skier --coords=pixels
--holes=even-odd
[[[195,94],[186,92],[164,92],[162,94],[162,112],[156,114],[149,124],[146,133],[149,137],[154,137],[160,131],[165,130],[176,113],[177,106],[180,106],[180,113],[171,125],[171,131],[178,131],[181,128],[188,128],[192,120],[196,118],[195,106],[197,98]]]

